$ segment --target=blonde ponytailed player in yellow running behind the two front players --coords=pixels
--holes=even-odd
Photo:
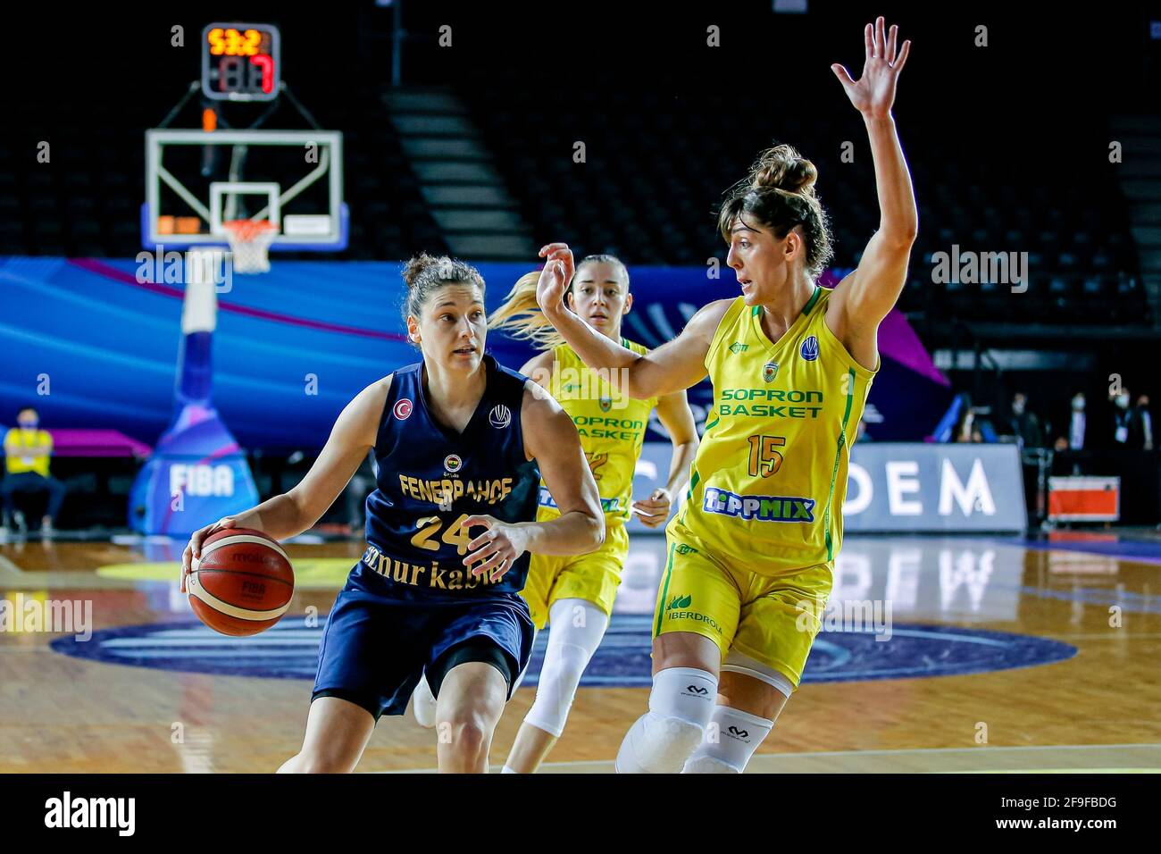
[[[636,512],[647,528],[665,524],[672,496],[688,482],[698,447],[698,430],[685,390],[647,400],[630,400],[618,393],[607,378],[585,367],[541,314],[536,304],[539,278],[539,273],[522,277],[491,315],[489,326],[531,340],[543,351],[520,372],[546,388],[572,418],[600,489],[606,534],[605,544],[590,554],[532,555],[520,595],[528,603],[536,629],[546,624],[550,627],[536,698],[504,765],[506,774],[534,773],[563,733],[580,677],[608,627],[629,551],[625,523]],[[569,304],[611,340],[635,353],[648,352],[643,345],[621,337],[621,321],[633,307],[633,295],[628,270],[614,256],[589,256],[577,265]],[[673,445],[669,476],[665,486],[648,498],[633,502],[633,475],[654,409]],[[543,522],[558,515],[542,483],[536,519]],[[431,725],[434,718],[423,686],[420,681],[416,692],[416,717]]]

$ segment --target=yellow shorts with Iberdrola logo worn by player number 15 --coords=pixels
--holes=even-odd
[[[781,673],[798,690],[822,627],[834,564],[758,575],[736,555],[711,553],[688,532],[666,531],[665,540],[652,636],[694,632],[717,645],[722,662],[741,653]]]

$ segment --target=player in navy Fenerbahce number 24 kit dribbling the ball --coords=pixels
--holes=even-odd
[[[298,486],[197,531],[183,555],[188,573],[202,540],[223,528],[275,539],[309,529],[374,450],[367,551],[323,632],[302,751],[280,772],[353,770],[380,716],[402,715],[421,674],[437,697],[439,769],[486,772],[496,723],[532,652],[517,595],[529,552],[585,553],[605,538],[571,418],[484,356],[479,273],[421,254],[403,278],[408,336],[423,361],[347,404]],[[541,478],[562,511],[551,522],[535,522]]]

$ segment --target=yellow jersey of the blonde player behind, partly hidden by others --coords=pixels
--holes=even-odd
[[[635,353],[648,351],[641,344],[621,339],[621,345]],[[649,412],[657,399],[632,400],[622,392],[614,392],[608,374],[589,368],[568,344],[553,351],[551,395],[561,404],[580,436],[592,476],[600,490],[600,505],[605,524],[623,524],[629,518],[633,496],[633,473],[641,455]],[[543,482],[540,485],[538,519],[558,516],[556,502]]]

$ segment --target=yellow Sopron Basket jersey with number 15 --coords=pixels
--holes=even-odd
[[[875,372],[827,326],[830,294],[816,286],[777,344],[740,296],[706,354],[714,408],[669,532],[759,575],[828,562],[842,544],[850,443]]]

